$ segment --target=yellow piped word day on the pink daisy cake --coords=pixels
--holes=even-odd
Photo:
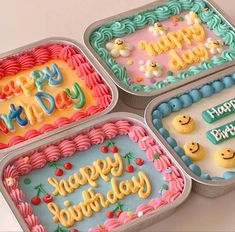
[[[202,44],[185,51],[181,56],[175,50],[169,51],[169,55],[171,56],[169,65],[176,70],[185,69],[189,64],[209,58],[208,51]]]

